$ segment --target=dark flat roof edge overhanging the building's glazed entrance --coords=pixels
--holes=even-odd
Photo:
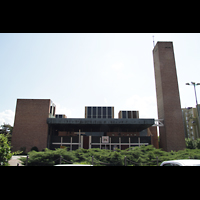
[[[95,119],[95,118],[47,118],[47,124],[51,125],[72,125],[72,126],[120,126],[129,127],[132,131],[142,131],[151,127],[155,119]]]

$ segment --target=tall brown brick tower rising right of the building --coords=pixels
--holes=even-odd
[[[172,42],[157,42],[153,49],[160,147],[165,151],[184,149],[185,136]]]

